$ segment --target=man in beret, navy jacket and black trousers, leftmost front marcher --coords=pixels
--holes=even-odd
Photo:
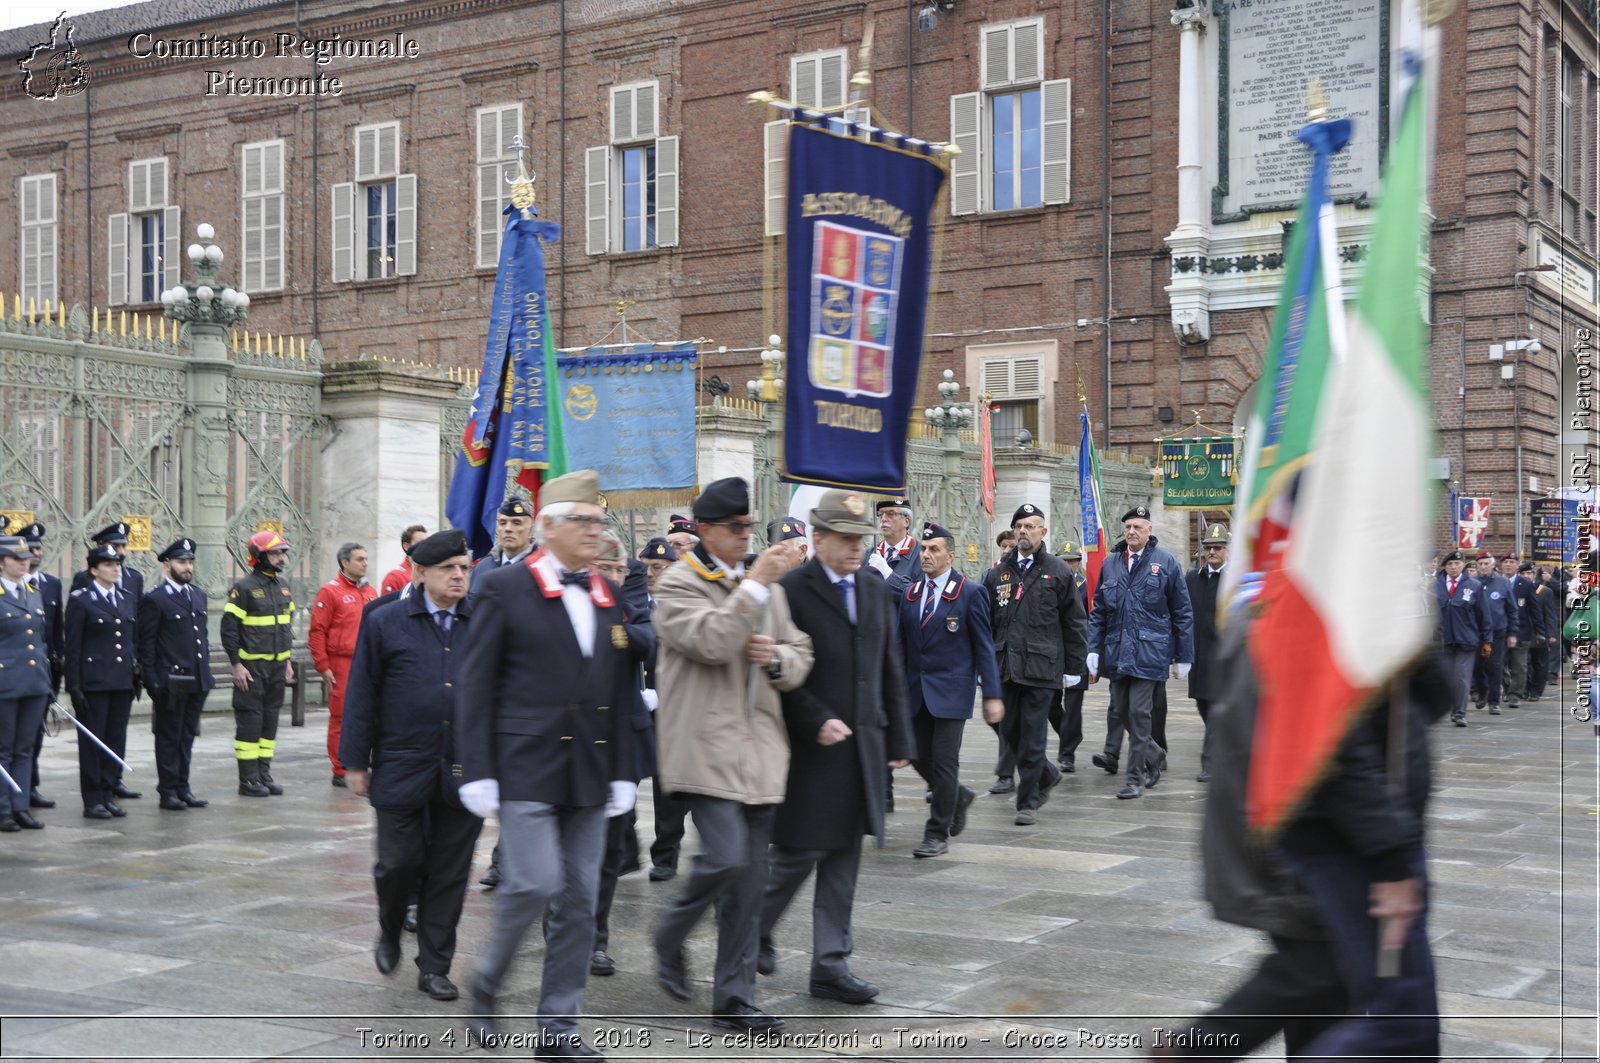
[[[450,981],[456,924],[483,820],[456,796],[451,736],[454,684],[467,644],[472,554],[462,532],[411,546],[422,586],[379,605],[362,623],[344,692],[339,764],[352,794],[378,815],[378,970],[400,962],[400,930],[416,895],[416,988],[435,1001],[459,996]]]

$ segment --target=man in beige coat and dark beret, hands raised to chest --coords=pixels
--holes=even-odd
[[[755,949],[766,845],[789,775],[779,692],[811,671],[811,639],[794,626],[778,580],[798,554],[750,548],[750,491],[736,477],[694,499],[699,543],[656,583],[656,778],[690,805],[701,853],[656,927],[656,980],[690,999],[683,941],[717,903],[712,1021],[723,1029],[784,1025],[755,1007]]]

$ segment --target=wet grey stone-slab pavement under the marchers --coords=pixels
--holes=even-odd
[[[1192,703],[1173,700],[1170,773],[1144,799],[1118,802],[1120,780],[1088,764],[1102,692],[1088,698],[1082,768],[1034,828],[1011,824],[1010,799],[981,796],[947,856],[914,860],[923,788],[898,773],[890,844],[866,852],[856,903],[853,964],[882,986],[874,1005],[806,994],[810,905],[797,900],[760,1004],[821,1047],[726,1044],[714,1031],[709,925],[690,943],[694,1001],[666,997],[648,933],[677,882],[643,874],[618,889],[619,972],[590,980],[586,1033],[598,1029],[613,1060],[1147,1055],[1152,1028],[1221,999],[1262,938],[1213,921],[1198,895],[1205,788],[1194,781]],[[373,820],[363,800],[328,784],[325,720],[314,712],[278,735],[274,773],[286,796],[243,799],[232,722],[208,716],[195,789],[211,807],[181,813],[155,807],[150,736],[134,720],[130,781],[144,797],[114,821],[80,818],[74,743],[46,743],[45,791],[59,807],[42,813],[48,829],[0,837],[0,1057],[496,1055],[464,1044],[461,1007],[418,993],[410,962],[389,978],[374,969]],[[1595,1058],[1595,735],[1547,700],[1474,714],[1466,730],[1446,722],[1434,741],[1432,938],[1446,1058]],[[994,746],[987,727],[968,728],[963,780],[979,792]],[[646,786],[646,845],[650,821]],[[490,897],[474,885],[458,983],[488,919]],[[539,953],[538,941],[525,946],[502,1010],[531,1017]]]

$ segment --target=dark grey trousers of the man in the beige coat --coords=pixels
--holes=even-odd
[[[656,953],[677,956],[706,909],[717,905],[717,972],[712,1010],[733,1001],[755,1004],[755,949],[766,889],[766,847],[778,805],[690,794],[701,852],[678,895],[656,924]]]

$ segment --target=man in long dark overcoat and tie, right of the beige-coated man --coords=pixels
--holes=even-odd
[[[850,972],[850,917],[861,871],[861,837],[883,845],[883,772],[915,752],[894,592],[861,573],[874,527],[866,499],[832,490],[811,511],[814,556],[782,578],[795,626],[816,660],[784,695],[789,784],[773,824],[773,861],[762,901],[762,954],[771,970],[773,929],[816,871],[811,903],[811,996],[866,1004],[877,986]]]

